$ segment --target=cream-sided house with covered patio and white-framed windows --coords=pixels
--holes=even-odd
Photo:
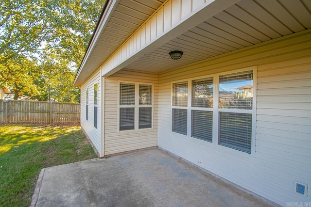
[[[74,81],[81,126],[100,157],[158,146],[310,205],[310,28],[310,0],[107,0]]]

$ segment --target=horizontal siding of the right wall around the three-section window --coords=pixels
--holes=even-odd
[[[282,41],[281,41],[282,39]],[[311,32],[221,55],[159,75],[158,146],[286,206],[310,202]],[[255,157],[172,132],[171,81],[258,66]]]

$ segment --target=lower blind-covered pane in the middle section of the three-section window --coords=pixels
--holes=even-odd
[[[212,142],[213,112],[192,110],[191,136]]]

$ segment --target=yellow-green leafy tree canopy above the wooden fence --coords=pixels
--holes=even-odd
[[[72,83],[104,0],[0,1],[0,88],[78,102]]]

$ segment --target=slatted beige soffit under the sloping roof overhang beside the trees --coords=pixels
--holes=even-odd
[[[104,30],[101,34],[97,34],[97,38],[94,35],[78,71],[75,85],[81,85],[164,2],[164,0],[107,1],[107,14],[104,14],[107,22],[102,22]],[[96,28],[95,34],[100,32],[98,30],[100,26]]]

